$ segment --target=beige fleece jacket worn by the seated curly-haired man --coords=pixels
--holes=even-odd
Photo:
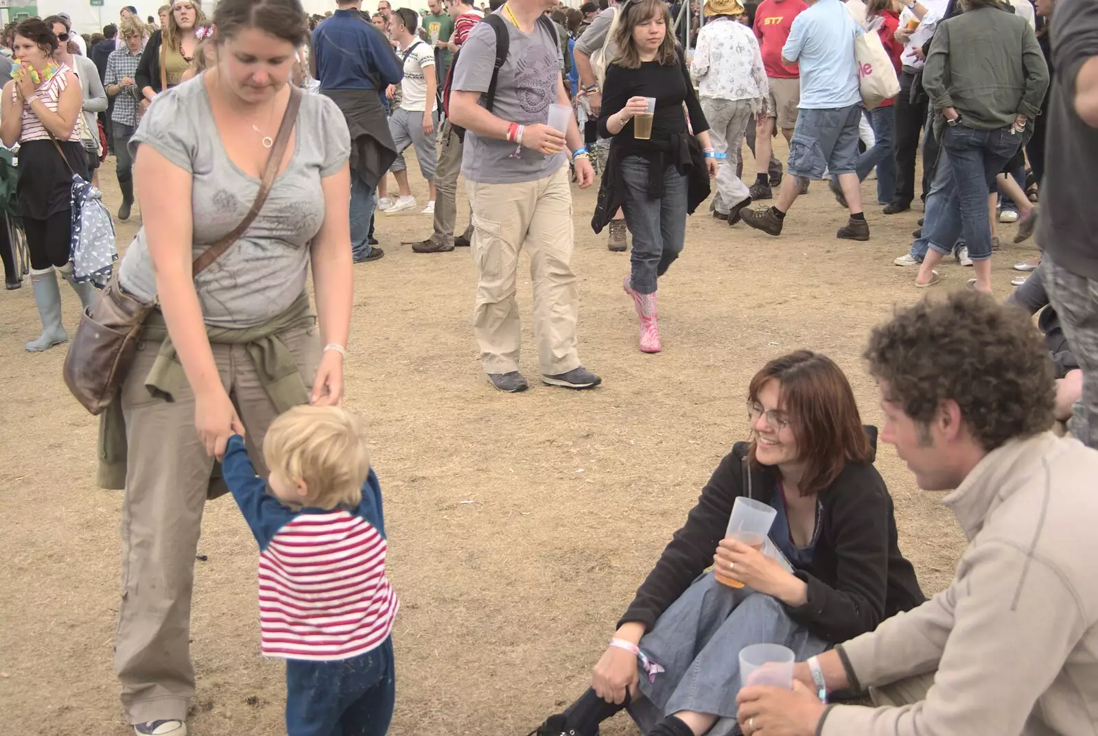
[[[856,684],[934,671],[904,707],[838,705],[820,736],[1098,734],[1098,451],[1051,432],[944,499],[968,539],[949,589],[842,645]]]

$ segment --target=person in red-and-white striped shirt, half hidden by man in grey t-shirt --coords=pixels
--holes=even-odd
[[[788,1],[788,0],[786,0]],[[457,53],[466,43],[469,32],[484,19],[484,13],[474,8],[469,0],[447,0],[446,10],[453,19],[453,34],[448,48]],[[452,73],[453,65],[450,65]],[[445,86],[447,80],[440,80]],[[438,166],[435,168],[435,231],[426,240],[412,245],[417,253],[442,253],[453,250],[455,246],[469,246],[472,236],[472,223],[466,231],[453,237],[453,228],[458,222],[458,174],[461,172],[461,141],[450,128],[450,122],[444,121],[438,132],[441,144],[438,149]]]

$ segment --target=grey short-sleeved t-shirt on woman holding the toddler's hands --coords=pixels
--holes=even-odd
[[[277,128],[276,122],[271,137]],[[276,178],[247,233],[194,279],[208,325],[260,325],[284,312],[305,288],[309,244],[324,222],[321,179],[347,163],[350,133],[330,99],[305,94],[291,143],[290,163]],[[131,151],[136,155],[142,144],[152,146],[192,177],[194,258],[232,233],[251,208],[259,180],[240,171],[226,155],[214,124],[204,75],[156,99],[131,138]],[[119,281],[127,293],[146,303],[156,299],[144,227],[119,268]]]

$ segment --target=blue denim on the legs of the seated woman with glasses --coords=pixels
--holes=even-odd
[[[698,577],[640,639],[641,650],[665,671],[650,682],[643,675],[629,714],[650,733],[665,715],[680,711],[719,716],[707,736],[736,727],[740,690],[739,652],[751,644],[782,644],[798,661],[829,647],[793,621],[782,601],[750,588],[729,588],[712,571]]]

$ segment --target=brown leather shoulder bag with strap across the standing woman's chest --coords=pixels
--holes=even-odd
[[[228,250],[247,231],[248,226],[262,210],[278,174],[282,156],[285,154],[290,133],[298,121],[300,106],[301,90],[291,87],[290,101],[287,103],[285,114],[282,116],[278,137],[271,147],[271,155],[267,160],[267,168],[264,169],[259,192],[251,204],[251,210],[232,233],[194,259],[191,268],[194,275],[201,273]],[[155,305],[138,302],[122,291],[115,272],[96,302],[80,317],[80,326],[77,327],[76,336],[65,356],[64,376],[65,385],[72,392],[72,396],[92,415],[103,411],[117,395],[133,365],[145,318],[155,308]]]

